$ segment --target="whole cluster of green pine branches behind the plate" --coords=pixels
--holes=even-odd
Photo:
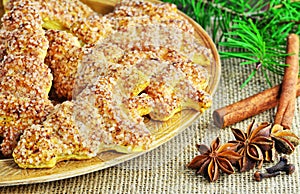
[[[269,85],[268,71],[283,75],[286,38],[290,33],[300,34],[300,0],[164,1],[176,4],[208,31],[222,46],[222,58],[241,58],[240,65],[253,65],[241,87],[258,71]]]

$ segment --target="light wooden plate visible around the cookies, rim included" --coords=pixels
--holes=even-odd
[[[150,1],[155,3],[159,2],[156,0]],[[100,13],[107,13],[113,10],[117,0],[83,0],[83,2],[92,6]],[[217,88],[221,72],[220,59],[217,49],[208,34],[201,28],[201,26],[199,26],[188,16],[184,15],[183,13],[181,14],[195,27],[196,38],[204,46],[210,48],[213,53],[215,63],[214,65],[207,67],[210,73],[208,90],[213,94]],[[153,142],[148,151],[155,149],[169,141],[171,138],[190,126],[192,122],[199,116],[200,114],[198,112],[186,110],[175,115],[172,119],[170,119],[170,121],[151,123],[151,125],[155,125],[155,127],[153,127],[155,130],[153,130],[152,133],[155,135],[156,140]],[[47,182],[83,175],[114,166],[144,153],[145,152],[121,154],[117,152],[104,152],[90,160],[59,162],[52,169],[21,169],[14,163],[13,159],[2,159],[0,160],[0,186]]]

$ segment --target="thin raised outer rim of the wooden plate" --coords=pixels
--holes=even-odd
[[[103,0],[87,0],[87,1],[102,2]],[[157,0],[147,0],[147,1],[154,2],[154,3],[162,3],[161,1],[157,1]],[[85,2],[85,1],[83,1],[83,2]],[[108,2],[108,1],[105,1],[105,2]],[[113,1],[110,1],[110,2],[116,3],[118,1],[113,0]],[[202,39],[202,41],[205,42],[205,45],[210,46],[210,50],[211,50],[213,58],[215,60],[215,64],[214,64],[215,68],[214,69],[216,71],[214,73],[217,75],[217,76],[213,77],[214,87],[212,88],[212,90],[210,90],[211,95],[214,95],[217,88],[218,88],[220,78],[221,78],[221,60],[220,60],[220,56],[219,56],[218,50],[216,48],[216,45],[214,44],[214,42],[212,41],[212,39],[208,35],[208,33],[197,22],[195,22],[192,18],[190,18],[189,16],[187,16],[186,14],[181,12],[180,10],[179,10],[179,13],[194,26],[195,30],[200,32],[198,35],[201,35],[201,39]],[[184,111],[190,111],[190,110],[184,110]],[[67,175],[59,174],[59,176],[57,176],[57,177],[53,177],[53,174],[46,174],[46,175],[39,176],[39,177],[32,177],[32,178],[26,178],[26,179],[6,180],[6,181],[5,180],[1,181],[2,178],[0,178],[0,187],[14,186],[14,185],[26,185],[26,184],[33,184],[33,183],[45,183],[45,182],[51,182],[51,181],[57,181],[57,180],[77,177],[77,176],[92,173],[92,172],[95,172],[95,171],[103,170],[103,169],[118,165],[122,162],[131,160],[133,158],[136,158],[136,157],[141,156],[145,153],[148,153],[148,152],[158,148],[159,146],[169,142],[172,138],[177,136],[179,133],[183,132],[186,128],[190,127],[194,123],[194,121],[196,119],[198,119],[201,115],[201,113],[199,113],[199,112],[196,112],[196,111],[193,111],[193,112],[194,113],[192,114],[192,116],[190,117],[190,119],[188,121],[185,121],[184,123],[182,123],[182,125],[180,125],[180,127],[178,127],[177,130],[173,130],[172,134],[168,134],[167,136],[165,136],[164,139],[160,139],[160,141],[163,141],[165,139],[167,139],[167,141],[165,141],[163,143],[157,143],[155,141],[155,143],[156,143],[155,146],[152,146],[152,144],[153,144],[152,143],[151,146],[150,146],[150,149],[148,149],[146,151],[138,152],[138,153],[131,153],[131,154],[123,154],[122,156],[118,156],[118,157],[116,157],[112,160],[101,162],[101,165],[99,165],[97,163],[97,164],[94,164],[94,165],[91,165],[91,166],[82,167],[82,168],[80,168],[80,170],[77,169],[77,171],[76,170],[69,171],[69,173]],[[71,162],[80,163],[80,162],[89,161],[89,160],[78,160],[78,161],[73,160]],[[114,161],[114,162],[111,162],[111,161]],[[1,159],[0,160],[0,164],[6,163],[6,162],[13,162],[13,159],[10,158],[10,159]],[[102,167],[102,165],[104,165],[104,166]],[[20,170],[24,170],[24,169],[20,169]],[[70,172],[72,172],[72,173],[70,173]]]

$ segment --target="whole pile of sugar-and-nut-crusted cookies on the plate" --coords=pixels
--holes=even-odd
[[[10,0],[5,9],[1,151],[20,167],[143,151],[155,138],[144,115],[166,121],[211,105],[202,67],[211,52],[172,4],[123,0],[105,16],[80,0]],[[52,79],[68,100],[55,107]]]

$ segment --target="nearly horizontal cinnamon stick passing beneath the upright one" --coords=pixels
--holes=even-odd
[[[300,79],[298,79],[296,88],[296,95],[300,96]],[[277,85],[234,104],[219,108],[213,112],[214,123],[217,127],[224,128],[274,108],[279,102],[280,93],[280,85]]]

